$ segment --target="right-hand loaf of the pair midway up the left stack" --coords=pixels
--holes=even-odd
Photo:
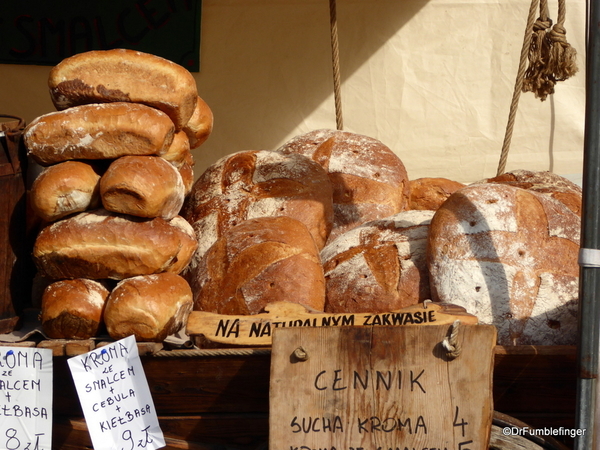
[[[100,196],[108,211],[168,220],[179,214],[185,186],[179,171],[158,156],[123,156],[102,175]]]

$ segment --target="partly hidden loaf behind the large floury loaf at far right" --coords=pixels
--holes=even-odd
[[[581,187],[565,177],[552,172],[513,170],[484,180],[485,183],[501,183],[529,189],[562,202],[574,213],[581,216],[583,193]]]

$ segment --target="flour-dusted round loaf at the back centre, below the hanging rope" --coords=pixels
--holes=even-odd
[[[333,228],[329,241],[370,220],[408,209],[404,164],[377,139],[337,130],[296,136],[277,151],[298,153],[319,163],[333,186]]]

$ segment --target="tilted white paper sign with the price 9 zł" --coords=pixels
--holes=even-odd
[[[95,450],[165,446],[133,336],[68,363]]]

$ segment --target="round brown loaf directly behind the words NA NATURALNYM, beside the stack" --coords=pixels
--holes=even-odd
[[[306,226],[290,217],[260,217],[225,231],[185,274],[194,309],[258,314],[276,301],[322,311],[325,280]]]

